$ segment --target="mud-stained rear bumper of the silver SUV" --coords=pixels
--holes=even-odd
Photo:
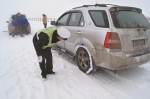
[[[104,68],[108,68],[111,70],[132,68],[132,67],[139,66],[150,61],[150,53],[131,57],[131,56],[126,56],[122,52],[108,53],[107,51],[105,51],[103,54],[98,53],[97,56],[101,56],[102,58],[98,58],[101,60],[97,60],[96,65],[104,67]]]

